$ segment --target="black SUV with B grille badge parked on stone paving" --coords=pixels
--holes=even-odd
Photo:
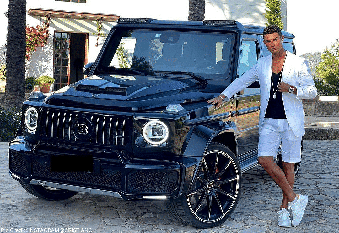
[[[186,224],[220,225],[238,203],[241,173],[258,165],[259,84],[217,109],[206,100],[270,54],[262,31],[231,20],[120,18],[87,78],[23,103],[11,177],[45,200],[164,200]],[[294,36],[283,35],[295,53]]]

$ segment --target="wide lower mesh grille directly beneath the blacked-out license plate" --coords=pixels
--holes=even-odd
[[[103,169],[100,173],[88,172],[58,172],[51,171],[47,162],[40,159],[33,159],[32,174],[36,178],[48,178],[56,181],[72,182],[74,184],[95,185],[113,189],[121,189],[122,175],[120,170]]]

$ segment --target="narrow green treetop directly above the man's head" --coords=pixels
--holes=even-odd
[[[278,25],[280,29],[283,29],[284,24],[282,23],[282,12],[281,12],[281,1],[280,0],[266,0],[266,13],[264,14],[267,23],[269,25]]]

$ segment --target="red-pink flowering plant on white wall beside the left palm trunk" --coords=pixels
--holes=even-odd
[[[31,57],[32,52],[37,51],[39,45],[43,47],[48,43],[48,28],[46,22],[42,25],[33,27],[29,24],[26,26],[26,61]]]

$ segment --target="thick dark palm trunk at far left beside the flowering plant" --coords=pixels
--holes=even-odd
[[[21,109],[25,100],[26,0],[8,1],[4,106]]]

